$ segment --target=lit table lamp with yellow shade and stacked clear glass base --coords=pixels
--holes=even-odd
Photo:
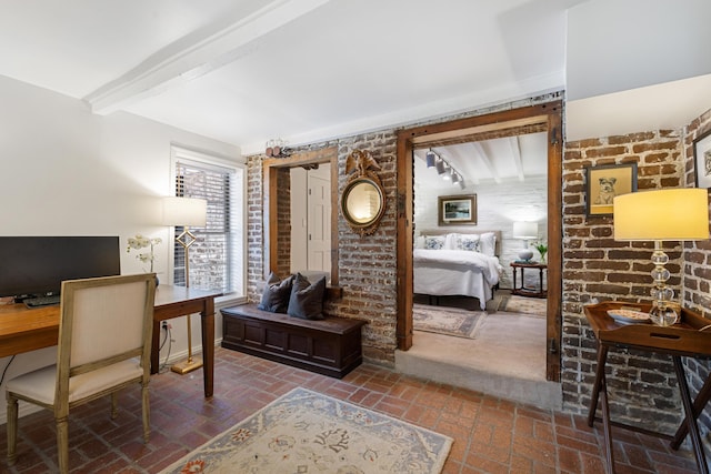
[[[709,239],[708,191],[682,188],[622,194],[613,199],[612,212],[614,240],[654,241],[650,319],[660,326],[674,324],[679,315],[670,305],[674,291],[667,286],[669,256],[662,251],[662,241]]]

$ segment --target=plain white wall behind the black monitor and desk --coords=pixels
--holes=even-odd
[[[242,160],[237,147],[128,113],[93,115],[81,101],[4,77],[0,103],[0,235],[119,235],[122,249],[137,233],[160,236],[154,270],[166,283],[172,236],[158,223],[159,198],[173,185],[171,143]],[[121,252],[121,270],[143,269],[133,253]],[[198,320],[193,344],[200,344]],[[186,320],[172,326],[171,354],[186,353]],[[221,339],[219,313],[216,329]],[[6,380],[54,355],[52,347],[19,354]],[[9,361],[0,360],[0,372]],[[0,423],[4,416],[0,410]]]

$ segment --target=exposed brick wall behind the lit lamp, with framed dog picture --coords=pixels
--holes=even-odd
[[[650,131],[569,142],[563,158],[562,389],[568,410],[585,412],[594,381],[595,344],[583,305],[598,301],[651,301],[652,242],[612,238],[611,216],[585,215],[584,167],[638,164],[638,190],[678,188],[684,180],[679,131]],[[665,242],[669,285],[681,291],[682,245]],[[637,351],[609,355],[610,409],[614,418],[673,432],[681,401],[671,360]]]

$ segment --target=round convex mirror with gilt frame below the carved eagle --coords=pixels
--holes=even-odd
[[[385,209],[382,186],[361,177],[348,183],[341,199],[341,211],[351,228],[361,234],[374,232]]]

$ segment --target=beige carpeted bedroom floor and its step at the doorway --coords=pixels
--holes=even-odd
[[[415,303],[480,311],[463,296],[415,296]],[[508,312],[507,304],[523,312]],[[500,290],[487,303],[487,316],[473,340],[415,331],[413,345],[395,353],[395,367],[407,374],[479,390],[509,400],[559,409],[560,384],[545,380],[545,300],[511,296]]]

